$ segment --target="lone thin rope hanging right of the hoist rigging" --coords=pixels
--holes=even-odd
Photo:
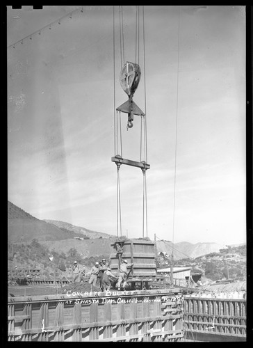
[[[174,155],[174,199],[173,199],[173,228],[172,228],[172,258],[174,255],[174,220],[175,220],[175,205],[176,205],[176,177],[177,177],[177,120],[179,106],[179,44],[180,44],[180,6],[179,6],[179,26],[178,26],[178,42],[177,42],[177,113],[176,113],[176,141]]]

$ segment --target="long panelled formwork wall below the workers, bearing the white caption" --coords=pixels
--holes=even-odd
[[[179,290],[68,293],[8,299],[10,341],[180,341]]]

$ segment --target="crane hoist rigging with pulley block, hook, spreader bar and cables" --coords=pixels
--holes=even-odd
[[[142,237],[147,237],[147,182],[146,171],[150,168],[147,164],[147,122],[146,122],[146,90],[145,90],[145,112],[143,112],[135,102],[133,102],[133,95],[138,88],[140,82],[141,70],[140,60],[140,8],[136,6],[136,61],[138,56],[138,63],[132,63],[126,61],[124,63],[124,20],[123,20],[123,8],[119,6],[120,15],[120,61],[123,66],[120,72],[120,85],[124,92],[128,95],[129,99],[122,105],[118,106],[114,111],[114,137],[115,137],[115,156],[112,157],[112,161],[117,165],[117,237],[122,237],[122,219],[121,219],[121,200],[120,200],[120,166],[126,164],[128,166],[134,166],[140,168],[143,174],[143,202],[142,202]],[[144,59],[144,80],[145,80],[145,25],[144,25],[144,7],[142,6],[142,38],[143,38],[143,59]],[[113,62],[114,62],[114,80],[115,80],[115,9],[113,6]],[[145,82],[145,81],[144,81]],[[115,106],[115,81],[114,81],[114,106]],[[121,113],[128,114],[128,120],[126,130],[133,127],[133,116],[140,116],[140,161],[133,161],[131,159],[123,158],[122,156],[122,129],[121,129]],[[120,142],[120,151],[118,143]],[[144,152],[144,158],[143,158]]]

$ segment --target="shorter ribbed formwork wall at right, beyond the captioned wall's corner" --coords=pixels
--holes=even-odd
[[[245,299],[185,297],[186,331],[246,337]]]

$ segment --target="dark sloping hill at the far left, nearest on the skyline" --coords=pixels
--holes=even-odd
[[[31,214],[24,212],[8,201],[8,241],[9,242],[31,242],[63,240],[74,237],[83,237],[81,233],[61,230],[60,228],[36,219]]]

